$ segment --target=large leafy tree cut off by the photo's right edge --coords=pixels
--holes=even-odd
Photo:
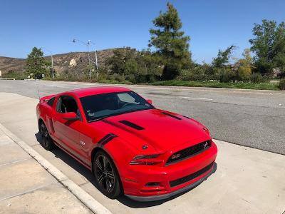
[[[285,23],[262,20],[254,24],[254,39],[249,39],[254,51],[254,63],[260,73],[272,73],[273,68],[285,70]]]

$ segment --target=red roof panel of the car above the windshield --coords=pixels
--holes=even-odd
[[[91,88],[79,88],[72,91],[68,91],[68,93],[72,93],[74,96],[78,98],[84,96],[92,96],[100,93],[114,93],[114,92],[124,92],[131,91],[128,88],[116,87],[116,86],[99,86],[99,87],[91,87]]]

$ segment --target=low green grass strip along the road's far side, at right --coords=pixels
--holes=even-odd
[[[273,83],[220,83],[218,81],[156,81],[153,86],[187,86],[209,88],[242,88],[259,90],[279,90],[278,84]]]

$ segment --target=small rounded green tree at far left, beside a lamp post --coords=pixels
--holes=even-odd
[[[26,74],[30,75],[33,73],[35,78],[42,78],[42,74],[48,75],[46,66],[48,62],[43,58],[43,51],[36,47],[33,47],[31,54],[28,54],[26,58]]]

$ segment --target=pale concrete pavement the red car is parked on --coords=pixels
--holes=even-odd
[[[284,213],[285,156],[216,140],[217,172],[189,192],[155,203],[110,200],[95,188],[86,168],[59,149],[48,152],[39,145],[36,103],[34,98],[0,93],[0,123],[112,213]]]

